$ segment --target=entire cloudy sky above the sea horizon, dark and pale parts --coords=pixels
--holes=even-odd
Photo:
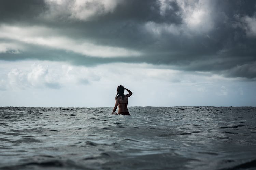
[[[1,0],[0,106],[256,106],[256,2]]]

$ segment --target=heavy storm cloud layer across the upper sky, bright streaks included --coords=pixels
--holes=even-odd
[[[256,80],[254,1],[0,3],[1,60],[148,63]]]

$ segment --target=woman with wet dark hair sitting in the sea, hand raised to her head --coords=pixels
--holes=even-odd
[[[124,94],[125,90],[128,91],[129,94],[125,95]],[[128,108],[127,108],[127,104],[128,104],[128,97],[130,97],[131,95],[132,95],[132,92],[130,90],[128,90],[124,86],[121,86],[121,85],[118,86],[117,94],[115,97],[116,104],[115,104],[115,107],[113,108],[112,114],[130,115]],[[115,113],[117,106],[118,106],[118,113]]]

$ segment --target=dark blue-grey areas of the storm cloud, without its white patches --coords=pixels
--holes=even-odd
[[[26,3],[1,1],[1,3],[2,23],[17,22],[18,25],[24,23],[30,26],[33,24],[45,26],[56,29],[54,34],[58,36],[143,53],[139,57],[100,58],[27,44],[29,50],[20,54],[0,53],[2,60],[36,58],[86,66],[111,62],[146,62],[155,65],[165,64],[179,70],[210,71],[227,77],[256,78],[254,69],[256,38],[246,34],[245,23],[242,21],[245,16],[255,16],[256,8],[253,1],[209,1],[205,8],[210,16],[209,22],[205,21],[205,25],[195,30],[190,30],[186,25],[184,11],[176,1],[166,3],[167,7],[164,9],[157,0],[124,1],[118,3],[113,11],[95,15],[89,20],[72,18],[65,11],[62,11],[63,15],[49,18],[51,6],[44,1],[31,0]],[[186,3],[189,5],[188,2]],[[197,5],[200,4],[193,7],[199,8]],[[97,9],[102,8],[104,6]],[[46,15],[48,17],[45,17]],[[158,33],[154,34],[147,30],[145,26],[148,23],[152,23],[149,27],[156,26],[150,29],[157,30]],[[176,30],[169,32],[168,29],[171,28],[168,26]]]

